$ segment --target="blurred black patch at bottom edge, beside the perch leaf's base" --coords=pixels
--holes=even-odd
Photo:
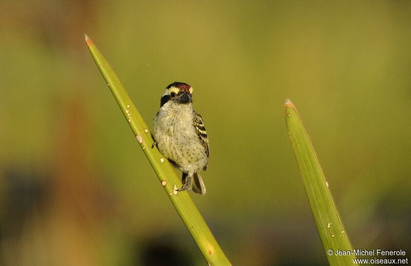
[[[193,265],[190,251],[181,248],[174,238],[161,237],[146,240],[137,246],[137,251],[144,266],[189,266]],[[178,238],[175,238],[176,240]],[[136,262],[138,259],[136,260]],[[139,265],[138,263],[135,265]]]

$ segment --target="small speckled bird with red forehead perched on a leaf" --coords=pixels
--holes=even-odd
[[[178,191],[206,194],[198,173],[207,169],[209,139],[202,117],[193,110],[193,88],[182,82],[167,86],[161,96],[160,110],[153,119],[154,145],[173,166],[180,169],[183,186]]]

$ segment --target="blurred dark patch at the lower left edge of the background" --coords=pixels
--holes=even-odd
[[[13,265],[21,257],[22,239],[33,217],[49,200],[45,174],[26,165],[8,165],[2,171],[0,264]]]

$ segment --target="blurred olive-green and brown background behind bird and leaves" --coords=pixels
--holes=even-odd
[[[233,265],[326,257],[284,122],[297,106],[354,248],[411,252],[411,2],[2,1],[0,264],[204,265],[84,43],[147,124],[194,87],[191,194]],[[180,174],[179,174],[180,175]]]

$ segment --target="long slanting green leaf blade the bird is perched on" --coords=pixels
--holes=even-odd
[[[177,177],[171,164],[158,151],[152,148],[154,142],[150,130],[142,119],[137,108],[128,97],[126,90],[117,78],[117,75],[97,49],[94,42],[85,35],[87,47],[92,58],[97,64],[111,93],[113,93],[128,125],[133,131],[137,142],[140,144],[145,156],[152,165],[161,185],[171,200],[181,220],[189,230],[200,252],[209,265],[231,265],[226,255],[221,250],[209,227],[199,213],[188,192],[177,192],[176,187],[181,187],[181,181]]]

